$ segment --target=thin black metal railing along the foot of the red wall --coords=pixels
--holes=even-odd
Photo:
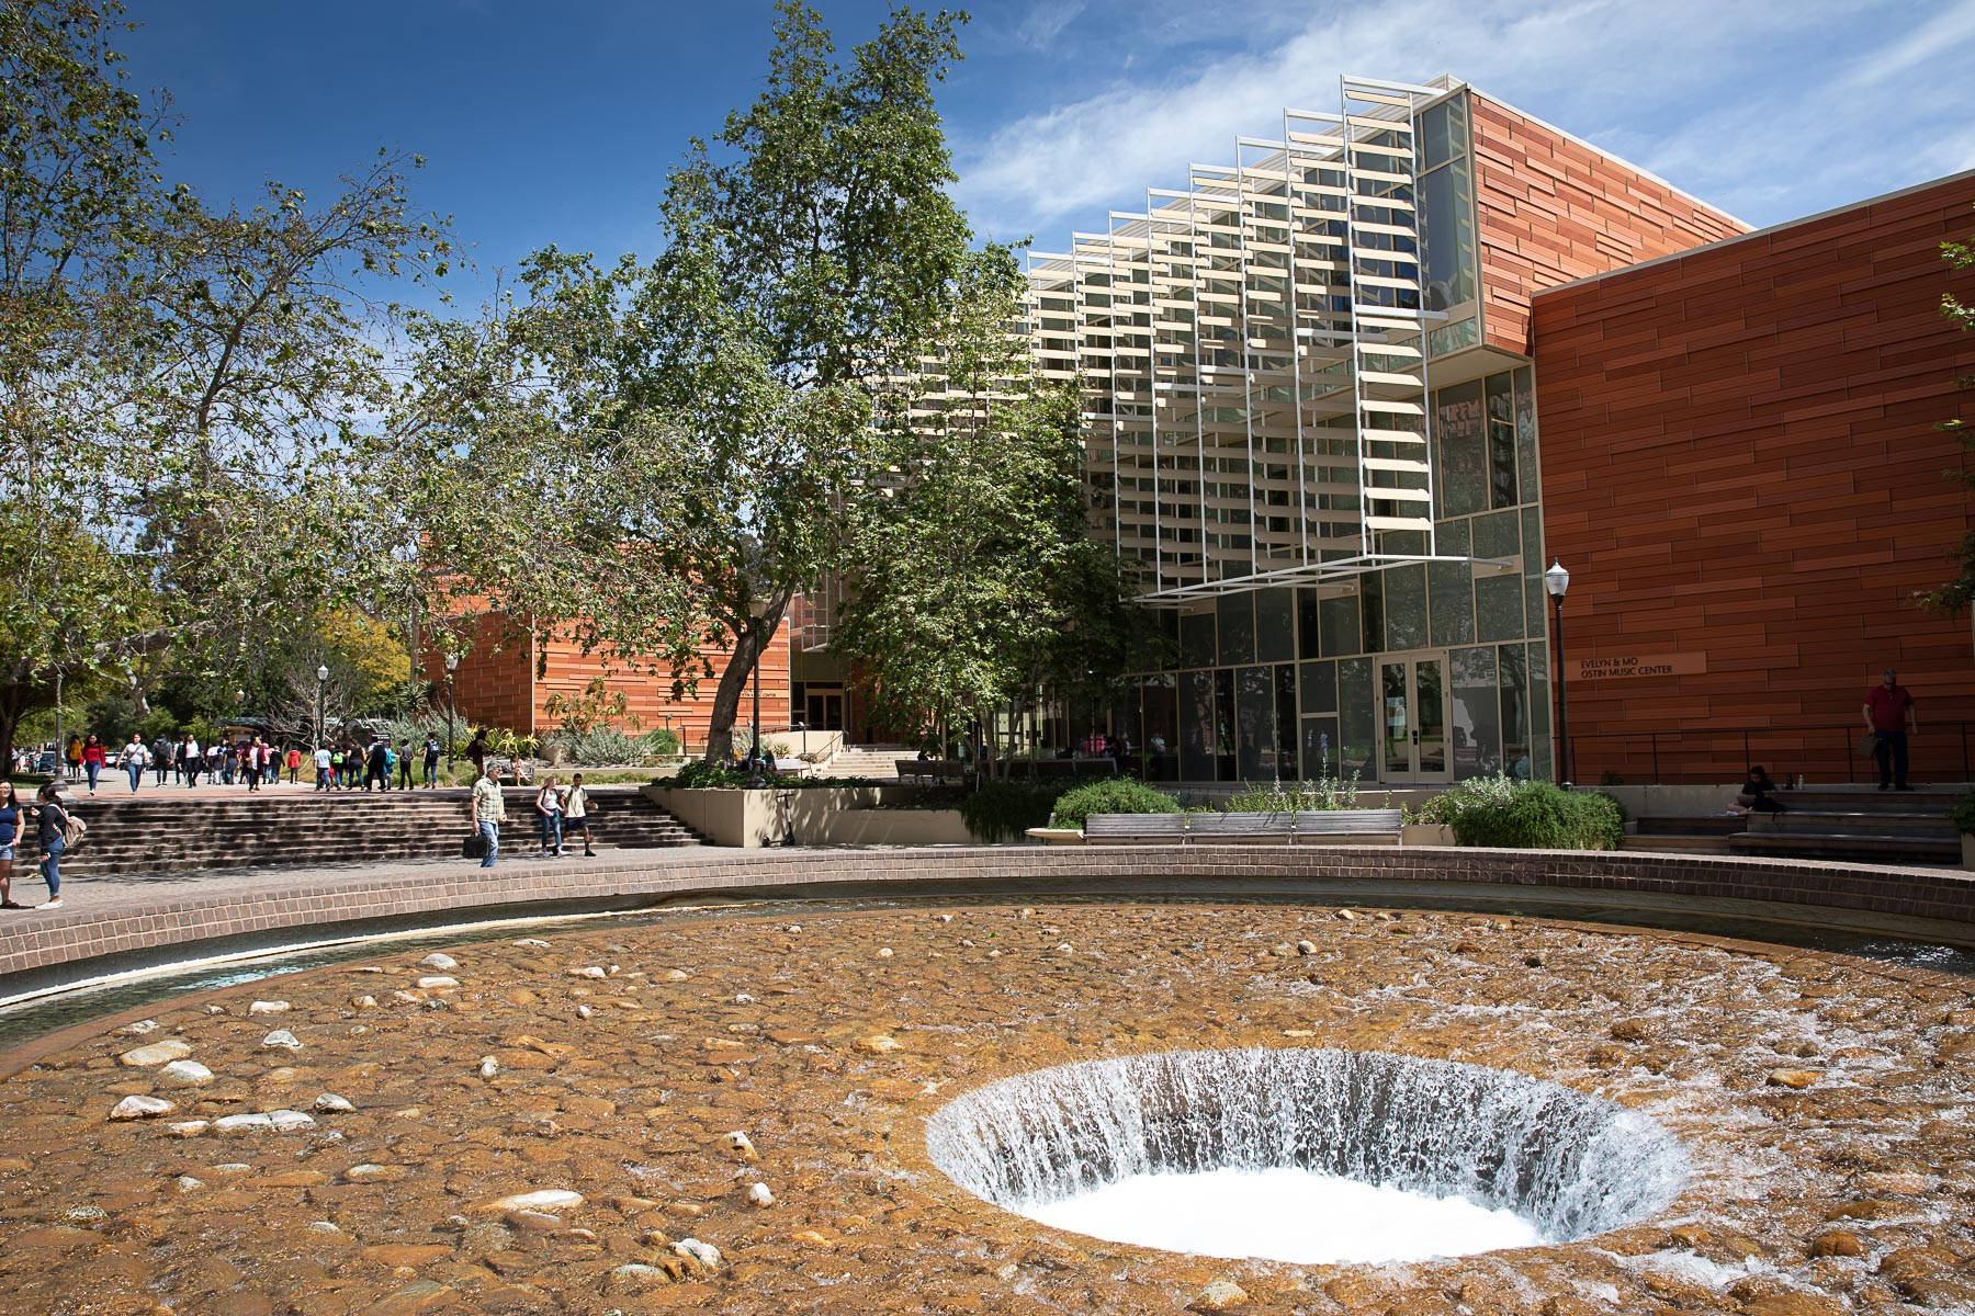
[[[1712,785],[1762,764],[1778,781],[1874,783],[1864,722],[1641,728],[1570,736],[1578,785]],[[1922,722],[1906,740],[1910,781],[1975,781],[1975,722]]]

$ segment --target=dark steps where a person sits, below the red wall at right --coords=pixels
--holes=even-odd
[[[1959,789],[1878,791],[1825,787],[1779,791],[1785,813],[1639,819],[1627,850],[1762,854],[1866,864],[1959,864],[1961,835],[1947,821]]]

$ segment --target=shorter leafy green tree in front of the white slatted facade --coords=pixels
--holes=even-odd
[[[849,523],[831,647],[893,726],[972,736],[1037,687],[1102,696],[1153,627],[1090,539],[1076,391],[1013,335],[1013,258],[982,253],[960,288],[936,371],[885,430],[885,497]]]

